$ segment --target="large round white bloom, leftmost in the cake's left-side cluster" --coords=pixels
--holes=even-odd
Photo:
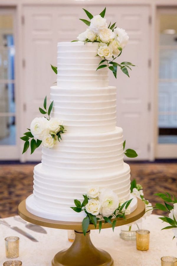
[[[30,125],[31,133],[38,140],[42,140],[43,137],[49,133],[47,128],[48,120],[45,117],[36,117],[32,120]]]

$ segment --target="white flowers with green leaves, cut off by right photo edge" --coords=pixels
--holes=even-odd
[[[172,229],[174,233],[173,238],[177,238],[177,198],[168,192],[156,193],[155,195],[163,200],[163,204],[156,203],[153,209],[161,210],[168,214],[168,216],[159,217],[160,220],[169,224],[169,226],[165,226],[162,230]]]

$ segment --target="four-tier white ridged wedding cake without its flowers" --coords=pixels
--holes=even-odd
[[[34,191],[27,210],[37,216],[82,221],[75,199],[89,186],[109,188],[119,201],[130,199],[130,167],[123,161],[123,131],[116,126],[116,87],[109,86],[108,68],[96,71],[98,43],[58,43],[57,86],[50,88],[52,117],[67,130],[53,148],[42,148],[34,168]],[[131,211],[137,207],[136,199]]]

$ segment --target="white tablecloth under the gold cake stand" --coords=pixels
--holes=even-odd
[[[158,219],[158,215],[150,215],[143,219],[142,228],[150,231],[150,248],[148,251],[138,251],[136,241],[125,241],[119,237],[120,227],[91,230],[91,241],[97,248],[104,249],[114,259],[114,266],[160,266],[162,256],[177,257],[177,239],[173,239],[172,230],[162,230],[167,226]],[[67,230],[45,227],[47,234],[37,233],[27,229],[24,224],[5,218],[12,226],[18,226],[30,233],[39,242],[32,242],[14,230],[0,225],[0,265],[10,260],[6,258],[4,238],[6,236],[19,236],[19,257],[23,266],[50,266],[55,254],[71,246],[67,238]],[[173,239],[173,240],[172,240]],[[84,265],[83,265],[84,266]]]

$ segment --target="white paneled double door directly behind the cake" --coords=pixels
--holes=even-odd
[[[99,14],[102,5],[84,6],[93,14]],[[42,106],[45,95],[50,98],[50,86],[56,75],[50,64],[56,65],[57,42],[75,40],[86,25],[79,18],[86,18],[81,6],[26,6],[23,9],[24,34],[24,130],[29,128],[32,119],[40,116],[38,107]],[[130,71],[130,78],[121,70],[117,80],[110,73],[110,85],[117,87],[117,125],[124,130],[126,148],[139,154],[138,159],[149,159],[150,143],[150,23],[148,6],[109,6],[106,18],[117,21],[130,36],[127,47],[119,62],[129,61],[137,65]],[[41,152],[36,150],[23,155],[25,160],[40,160]]]

